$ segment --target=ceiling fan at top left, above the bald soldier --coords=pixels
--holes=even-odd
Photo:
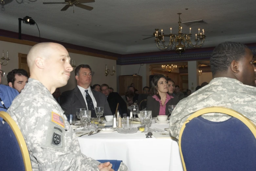
[[[83,5],[85,3],[90,2],[95,2],[95,0],[65,0],[65,2],[43,2],[43,4],[67,4],[65,7],[61,9],[61,11],[66,11],[69,7],[73,7],[73,5],[90,11],[93,9],[93,7]]]

